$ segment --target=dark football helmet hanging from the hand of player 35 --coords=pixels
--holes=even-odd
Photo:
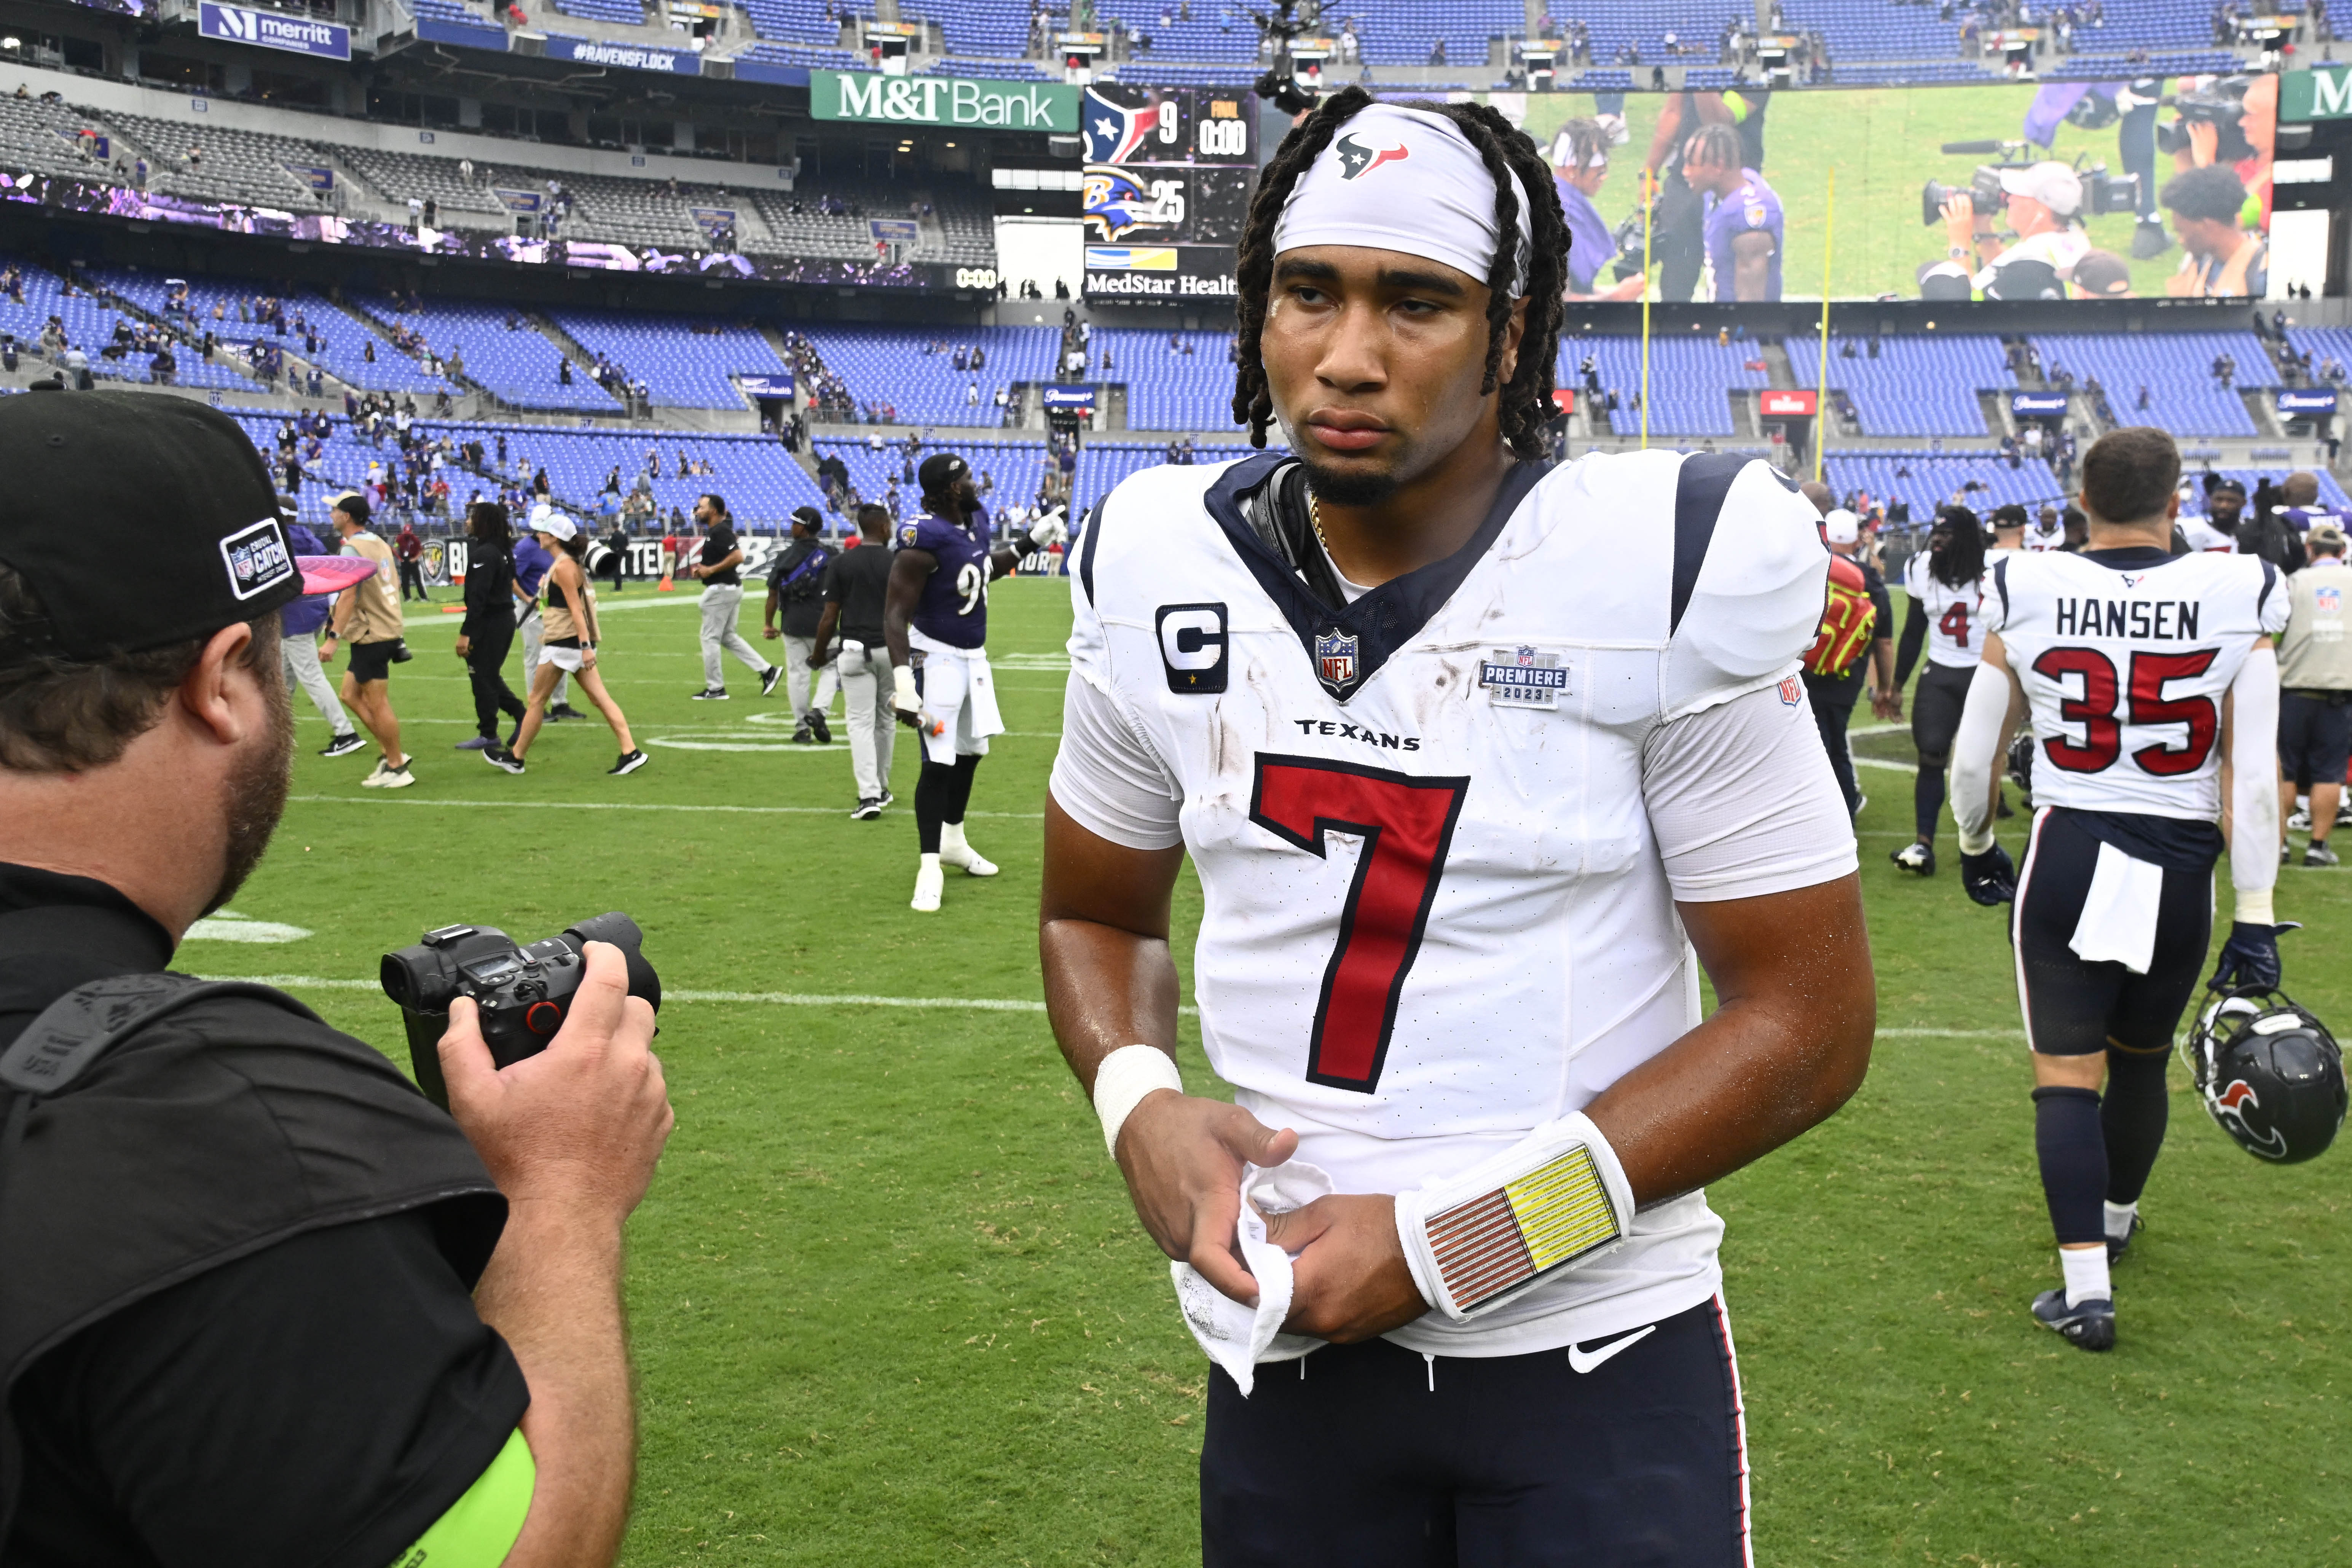
[[[2197,1095],[2256,1159],[2291,1166],[2321,1154],[2345,1121],[2345,1063],[2307,1009],[2267,985],[2220,992],[2180,1041]]]

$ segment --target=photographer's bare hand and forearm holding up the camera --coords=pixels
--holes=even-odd
[[[600,1568],[621,1549],[637,1422],[621,1316],[621,1222],[670,1135],[654,1009],[628,966],[588,943],[564,1027],[539,1056],[494,1067],[473,1001],[440,1041],[449,1112],[506,1194],[506,1232],[475,1309],[532,1389],[522,1439],[539,1479],[506,1568]]]

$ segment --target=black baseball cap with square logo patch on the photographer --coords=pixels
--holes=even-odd
[[[0,397],[0,562],[66,658],[207,637],[303,595],[278,487],[245,430],[167,393]]]

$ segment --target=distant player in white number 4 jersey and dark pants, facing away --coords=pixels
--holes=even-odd
[[[1903,567],[1903,646],[1896,649],[1896,691],[1910,682],[1919,654],[1926,670],[1912,691],[1912,745],[1919,750],[1919,778],[1912,783],[1915,837],[1893,851],[1893,863],[1922,877],[1936,875],[1936,820],[1943,816],[1943,769],[1952,759],[1952,736],[1959,733],[1959,710],[1969,701],[1969,679],[1985,651],[1985,524],[1964,505],[1936,512],[1926,531],[1926,550]]]

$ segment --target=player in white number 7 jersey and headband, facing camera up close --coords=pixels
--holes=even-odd
[[[1077,552],[1044,985],[1216,1361],[1211,1563],[1748,1561],[1700,1187],[1875,1025],[1828,557],[1764,463],[1541,461],[1566,244],[1496,110],[1334,94],[1237,266],[1235,416],[1298,456]],[[1174,1063],[1185,853],[1232,1103]]]

